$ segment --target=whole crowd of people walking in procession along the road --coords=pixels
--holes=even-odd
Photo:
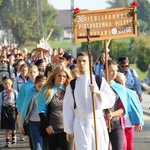
[[[18,130],[20,140],[28,135],[31,150],[94,150],[96,128],[98,150],[134,150],[134,127],[139,132],[144,125],[142,90],[127,57],[119,57],[118,65],[107,54],[106,82],[102,51],[92,62],[91,84],[86,52],[75,59],[62,48],[53,49],[52,56],[47,52],[41,56],[21,51],[17,45],[2,45],[0,53],[0,121],[5,147],[17,143]]]

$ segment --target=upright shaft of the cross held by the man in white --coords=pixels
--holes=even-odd
[[[93,84],[92,79],[92,55],[90,47],[90,29],[87,28],[87,45],[88,45],[88,56],[89,56],[89,71],[90,71],[90,82]],[[93,117],[94,117],[94,132],[95,132],[95,147],[98,150],[98,141],[97,141],[97,131],[96,131],[96,113],[95,113],[95,102],[94,102],[94,93],[92,92],[92,106],[93,106]]]

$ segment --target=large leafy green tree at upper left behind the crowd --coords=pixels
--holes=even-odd
[[[60,29],[54,20],[57,11],[42,0],[43,36],[47,37],[51,28],[54,28],[53,36],[59,36]],[[12,34],[19,45],[26,41],[39,40],[36,0],[4,0],[0,5],[0,22],[3,29],[12,29]]]

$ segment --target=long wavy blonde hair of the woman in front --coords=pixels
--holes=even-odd
[[[65,67],[62,64],[58,64],[56,65],[56,67],[54,68],[53,72],[48,76],[48,80],[46,81],[46,83],[44,84],[43,88],[46,88],[47,90],[45,91],[45,99],[46,99],[46,103],[49,103],[52,99],[52,94],[53,94],[53,87],[54,87],[54,81],[55,81],[55,76],[56,74],[58,74],[59,72],[64,71],[67,75],[67,79],[66,82],[64,83],[64,86],[67,87],[67,85],[70,83],[72,76],[70,73],[70,69]]]

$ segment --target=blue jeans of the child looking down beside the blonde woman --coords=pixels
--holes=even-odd
[[[43,140],[43,138],[40,135],[39,126],[40,122],[29,121],[29,129],[33,144],[33,150],[48,150],[47,142]]]

